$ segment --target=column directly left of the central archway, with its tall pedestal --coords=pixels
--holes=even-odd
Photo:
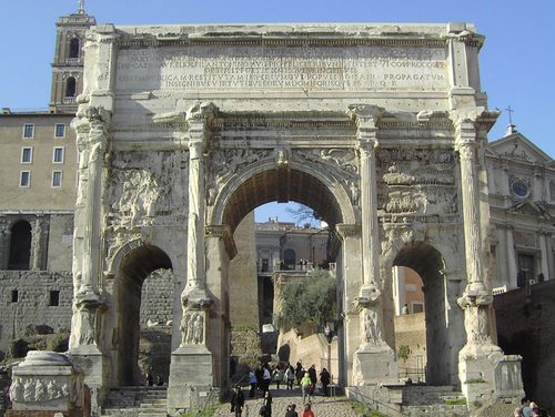
[[[189,221],[188,271],[181,293],[181,345],[172,353],[168,388],[169,409],[190,408],[200,404],[214,386],[214,357],[209,328],[213,305],[206,292],[205,200],[204,186],[208,125],[215,113],[213,104],[196,104],[189,110]],[[220,260],[214,260],[219,264]]]

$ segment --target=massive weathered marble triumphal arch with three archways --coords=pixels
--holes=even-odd
[[[272,201],[333,231],[342,385],[398,383],[401,265],[424,281],[427,380],[503,391],[483,41],[467,23],[94,27],[72,124],[70,340],[93,404],[140,380],[141,285],[158,268],[174,276],[169,408],[228,387],[233,232]]]

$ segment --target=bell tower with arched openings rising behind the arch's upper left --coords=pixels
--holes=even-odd
[[[54,61],[52,62],[52,89],[50,94],[50,112],[74,113],[77,96],[83,90],[83,44],[85,32],[97,24],[92,16],[88,16],[79,2],[75,13],[59,18],[56,35]]]

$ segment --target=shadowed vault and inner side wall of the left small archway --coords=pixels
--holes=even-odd
[[[121,261],[118,279],[118,367],[120,386],[142,385],[139,367],[141,339],[141,304],[145,279],[165,279],[165,269],[171,269],[170,257],[159,247],[143,245],[129,252]],[[157,272],[157,274],[152,274]],[[152,275],[151,275],[152,274]],[[155,284],[154,284],[155,285]],[[173,293],[160,294],[173,299]],[[143,319],[144,321],[144,319]],[[160,359],[157,368],[147,369],[162,377],[169,375],[170,356],[167,364]],[[165,379],[167,380],[167,379]]]

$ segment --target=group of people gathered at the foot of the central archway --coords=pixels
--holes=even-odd
[[[293,389],[293,385],[296,384],[301,386],[303,393],[303,404],[304,410],[301,417],[314,417],[314,413],[311,410],[311,400],[314,396],[316,383],[319,380],[319,375],[316,373],[316,366],[312,365],[309,369],[305,369],[301,362],[296,363],[296,367],[286,364],[284,367],[278,364],[273,368],[269,364],[262,364],[260,368],[252,368],[249,373],[249,385],[251,389],[249,391],[249,397],[254,398],[256,396],[256,389],[263,393],[263,404],[259,410],[259,415],[263,417],[272,416],[272,394],[270,393],[270,385],[272,382],[275,383],[276,389],[280,389],[281,384],[285,384],[286,389]],[[322,384],[323,395],[327,396],[327,386],[330,385],[332,377],[326,368],[323,368],[320,373],[320,383]],[[238,385],[233,390],[233,397],[231,399],[231,411],[235,413],[236,417],[240,417],[243,413],[245,401],[245,395]],[[287,407],[286,417],[297,417],[296,405],[291,404]]]

